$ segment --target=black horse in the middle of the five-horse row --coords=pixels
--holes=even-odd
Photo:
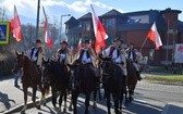
[[[74,79],[72,81],[72,102],[74,106],[73,113],[77,114],[77,98],[80,93],[84,93],[85,114],[88,114],[90,93],[93,91],[96,91],[99,84],[99,79],[98,77],[95,77],[94,72],[90,69],[90,64],[82,64],[76,60],[73,64],[69,66],[74,75]]]

